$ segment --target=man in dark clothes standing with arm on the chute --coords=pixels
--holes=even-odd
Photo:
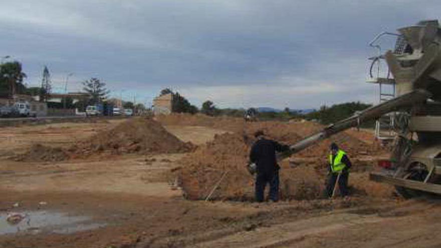
[[[264,192],[267,183],[270,184],[270,200],[278,201],[280,167],[277,164],[276,152],[287,152],[289,151],[289,146],[266,139],[263,131],[257,131],[254,136],[258,140],[251,148],[250,161],[257,166],[255,185],[256,201],[264,201]]]

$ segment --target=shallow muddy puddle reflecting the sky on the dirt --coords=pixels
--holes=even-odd
[[[10,224],[6,219],[8,214],[0,214],[0,235],[40,232],[69,234],[78,231],[91,230],[105,226],[105,223],[92,222],[88,216],[69,215],[53,211],[23,212],[25,218],[17,224]]]

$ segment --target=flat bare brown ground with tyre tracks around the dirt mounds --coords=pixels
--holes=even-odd
[[[247,125],[241,119],[216,124],[198,118],[159,121],[194,146]],[[0,247],[441,247],[440,202],[402,199],[390,193],[391,187],[368,182],[369,169],[351,173],[354,180],[349,184],[364,183],[367,192],[349,200],[254,203],[184,198],[171,171],[185,166],[180,161],[193,151],[77,155],[63,161],[14,159],[33,145],[67,148],[125,121],[0,129]],[[373,142],[369,132],[348,132]],[[373,166],[372,154],[357,156]],[[312,158],[304,161],[308,159]],[[216,181],[210,183],[214,186]],[[10,226],[5,216],[12,212],[27,214],[23,221],[28,224]],[[47,214],[54,223],[40,221],[39,227],[29,228],[39,214]]]

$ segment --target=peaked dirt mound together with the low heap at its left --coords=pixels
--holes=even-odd
[[[167,132],[160,123],[148,118],[133,118],[110,130],[102,130],[68,149],[33,145],[16,157],[20,161],[62,161],[100,154],[181,153],[194,150]]]

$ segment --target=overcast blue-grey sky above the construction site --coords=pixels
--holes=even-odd
[[[165,88],[200,107],[374,103],[368,47],[382,32],[438,19],[441,1],[0,0],[0,56],[43,67],[63,91],[97,77],[151,103]]]

